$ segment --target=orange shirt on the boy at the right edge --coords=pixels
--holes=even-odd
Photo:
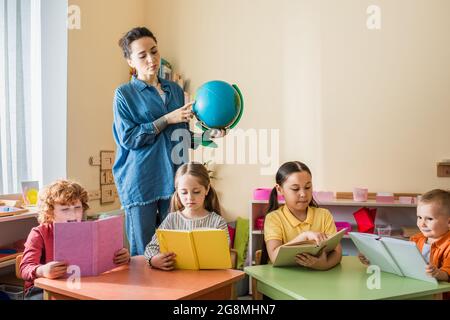
[[[413,235],[410,240],[415,242],[420,252],[422,252],[427,238],[422,233],[418,233]],[[450,231],[431,245],[430,263],[447,272],[450,282]],[[450,292],[444,293],[443,298],[450,300]]]

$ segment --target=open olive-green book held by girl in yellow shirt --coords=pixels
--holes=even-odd
[[[295,262],[295,256],[301,253],[308,253],[313,256],[318,256],[325,252],[333,251],[337,245],[341,242],[347,229],[342,229],[341,231],[330,236],[327,240],[323,241],[320,245],[313,240],[300,241],[296,243],[284,244],[280,247],[278,255],[273,262],[274,267],[288,267],[297,266]]]

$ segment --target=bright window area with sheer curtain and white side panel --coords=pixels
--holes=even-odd
[[[0,194],[66,177],[67,0],[0,0]]]

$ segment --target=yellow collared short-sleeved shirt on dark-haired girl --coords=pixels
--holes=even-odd
[[[286,205],[267,214],[264,221],[264,240],[280,240],[286,243],[305,231],[335,234],[336,224],[330,211],[308,207],[306,220],[301,222]]]

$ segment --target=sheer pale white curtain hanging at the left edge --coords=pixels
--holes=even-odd
[[[0,194],[31,178],[31,1],[0,0]]]

